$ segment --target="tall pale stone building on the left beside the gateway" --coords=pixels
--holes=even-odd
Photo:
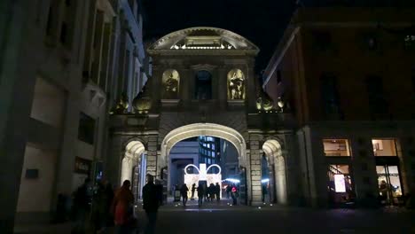
[[[59,195],[101,178],[113,100],[137,93],[148,71],[138,6],[2,1],[0,230],[49,221]]]

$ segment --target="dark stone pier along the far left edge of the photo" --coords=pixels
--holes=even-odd
[[[43,44],[43,38],[26,40],[34,4],[5,0],[0,7],[0,43],[5,45],[0,50],[0,233],[13,233],[35,88],[35,50]],[[10,27],[3,27],[4,22]]]

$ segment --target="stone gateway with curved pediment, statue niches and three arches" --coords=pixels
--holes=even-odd
[[[270,177],[278,202],[295,203],[296,173],[290,165],[296,156],[285,156],[294,152],[292,118],[260,91],[254,74],[257,47],[225,29],[191,27],[161,37],[147,51],[152,79],[133,101],[133,112],[111,117],[110,180],[131,179],[131,170],[145,160],[143,173],[155,175],[169,193],[174,184],[168,162],[175,144],[213,136],[238,152],[242,203],[262,203],[264,152],[267,167],[276,168]]]

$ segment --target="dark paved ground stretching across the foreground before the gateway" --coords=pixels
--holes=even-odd
[[[161,207],[156,233],[177,234],[219,234],[219,233],[415,233],[415,212],[402,208],[382,210],[331,209],[278,207],[229,206],[207,204],[201,208],[196,201],[187,207],[172,203]],[[176,206],[177,205],[177,206]],[[140,224],[145,225],[145,214],[137,209]],[[65,226],[67,225],[67,226]],[[20,229],[20,231],[19,231]],[[25,230],[17,227],[19,233],[69,233],[68,224],[38,227]]]

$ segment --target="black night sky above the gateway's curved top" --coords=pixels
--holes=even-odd
[[[260,48],[256,70],[261,70],[293,11],[294,0],[149,0],[145,2],[145,40],[186,27],[221,27]]]

